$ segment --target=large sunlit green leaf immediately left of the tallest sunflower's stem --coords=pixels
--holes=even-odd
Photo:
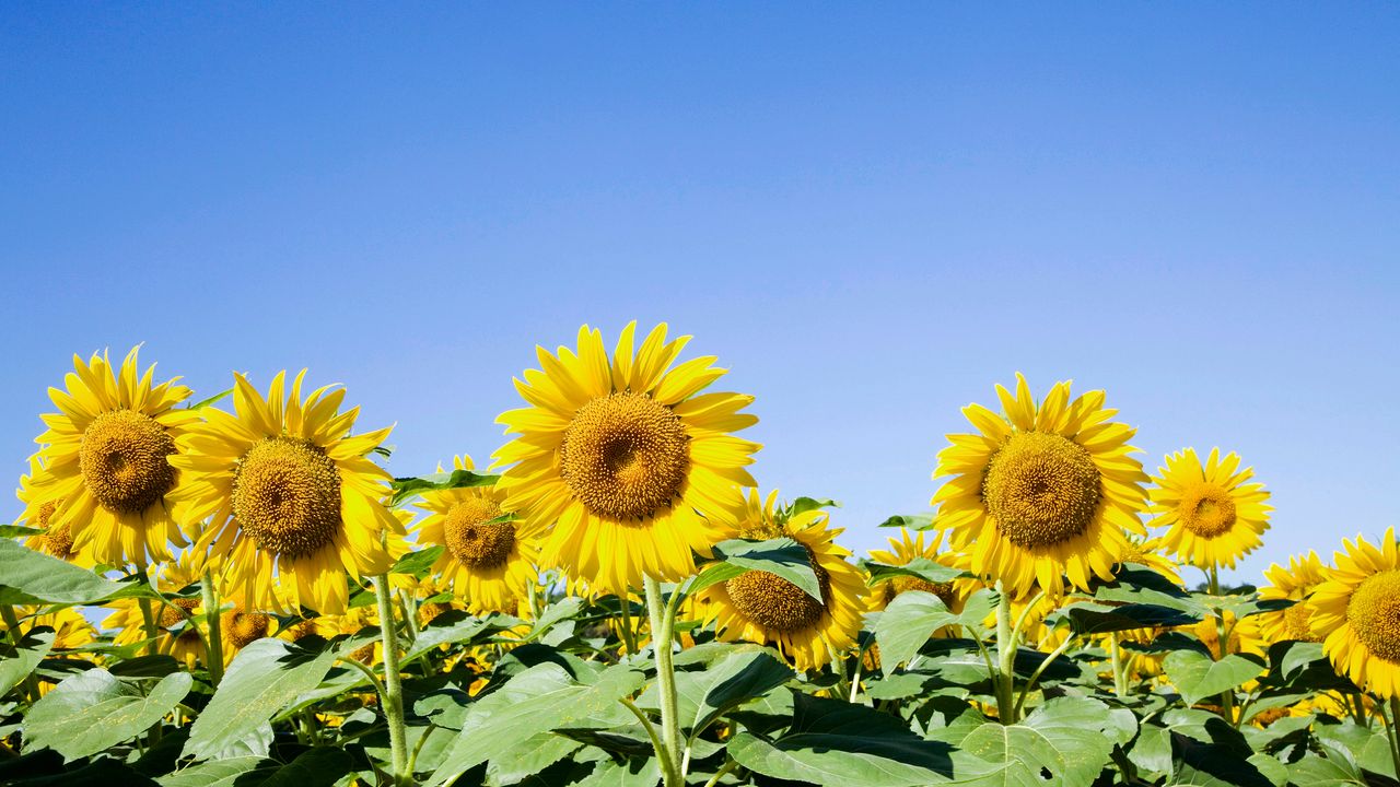
[[[581,685],[559,664],[536,664],[468,707],[462,731],[428,783],[445,784],[497,755],[511,756],[511,745],[533,735],[622,710],[617,700],[636,693],[644,679],[634,667],[615,665]]]

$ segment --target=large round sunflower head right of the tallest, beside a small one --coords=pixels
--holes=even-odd
[[[1127,444],[1135,430],[1110,420],[1103,391],[1071,401],[1070,382],[1057,382],[1037,405],[1016,374],[1016,394],[998,385],[997,395],[1005,415],[967,405],[977,431],[949,434],[938,454],[934,478],[951,478],[934,494],[934,525],[972,556],[973,573],[1014,597],[1037,583],[1058,597],[1065,577],[1088,590],[1112,576],[1124,532],[1145,535],[1147,475]]]

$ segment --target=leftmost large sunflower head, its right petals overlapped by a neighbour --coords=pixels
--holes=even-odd
[[[67,389],[49,388],[59,412],[41,416],[42,469],[21,517],[67,529],[71,552],[111,566],[169,560],[169,545],[185,545],[169,504],[181,473],[167,458],[199,412],[175,406],[190,395],[178,377],[153,385],[155,367],[140,372],[137,349],[119,370],[106,353],[74,356]]]

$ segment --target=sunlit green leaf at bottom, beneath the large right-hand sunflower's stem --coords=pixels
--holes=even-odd
[[[1019,724],[983,724],[962,739],[970,755],[998,766],[977,784],[1088,787],[1107,765],[1109,707],[1086,697],[1054,699]]]

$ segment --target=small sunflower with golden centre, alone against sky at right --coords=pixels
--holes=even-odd
[[[1196,450],[1187,448],[1169,455],[1158,473],[1148,492],[1148,511],[1156,517],[1148,524],[1169,528],[1162,541],[1179,560],[1204,570],[1233,569],[1260,545],[1273,507],[1264,504],[1264,485],[1245,483],[1254,469],[1239,469],[1238,454],[1221,458],[1219,448],[1211,448],[1201,465]]]

